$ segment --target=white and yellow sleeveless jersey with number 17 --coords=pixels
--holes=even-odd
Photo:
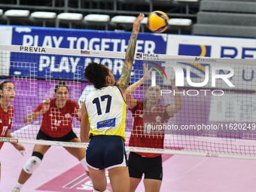
[[[125,139],[126,102],[116,86],[102,87],[87,96],[89,136],[122,136]]]

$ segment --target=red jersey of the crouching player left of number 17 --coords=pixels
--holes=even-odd
[[[55,101],[56,99],[50,99],[50,108],[43,114],[40,130],[51,137],[66,136],[72,130],[73,117],[81,121],[78,117],[78,103],[68,99],[64,108],[56,108]],[[33,112],[40,111],[42,105],[38,105]]]

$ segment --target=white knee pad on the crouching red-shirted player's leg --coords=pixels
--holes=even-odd
[[[43,154],[33,152],[32,157],[30,157],[26,164],[23,166],[23,170],[29,174],[32,174],[40,165],[42,158]]]

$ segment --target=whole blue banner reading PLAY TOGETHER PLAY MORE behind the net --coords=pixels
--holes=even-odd
[[[1,26],[4,28],[4,26]],[[6,27],[6,26],[5,26]],[[10,26],[9,26],[10,27]],[[89,56],[87,51],[105,50],[125,52],[131,32],[97,31],[87,29],[58,29],[31,26],[12,26],[11,44],[24,47],[56,47],[84,51],[83,56],[50,55],[42,50],[35,53],[11,53],[10,75],[20,77],[84,80],[84,67],[91,61],[101,62],[108,66],[115,79],[120,78],[124,59],[104,59]],[[151,58],[166,53],[166,34],[139,33],[136,57],[142,54]],[[157,58],[157,57],[156,57]],[[142,60],[134,63],[133,69],[142,68]],[[32,70],[32,71],[31,71]],[[131,81],[137,81],[142,73],[132,72]]]

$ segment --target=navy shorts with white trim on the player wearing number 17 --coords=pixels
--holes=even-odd
[[[86,153],[87,165],[92,169],[111,169],[128,166],[121,136],[93,136]]]

